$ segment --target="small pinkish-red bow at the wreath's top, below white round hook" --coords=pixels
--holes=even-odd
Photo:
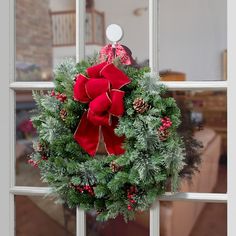
[[[115,57],[119,57],[122,64],[131,65],[132,59],[130,55],[126,52],[124,47],[116,43],[114,46],[107,44],[100,50],[100,61],[112,63]]]

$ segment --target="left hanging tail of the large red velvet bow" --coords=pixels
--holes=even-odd
[[[85,112],[74,133],[76,142],[90,155],[94,156],[99,146],[99,129],[100,126],[94,125],[87,118]]]

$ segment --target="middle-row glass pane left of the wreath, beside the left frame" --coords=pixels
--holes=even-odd
[[[16,92],[16,185],[46,186],[40,180],[38,168],[28,164],[33,151],[32,140],[36,138],[36,130],[30,121],[35,102],[31,91]]]

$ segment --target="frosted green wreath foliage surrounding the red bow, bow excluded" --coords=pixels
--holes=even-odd
[[[118,64],[131,79],[123,88],[125,114],[115,130],[118,136],[125,135],[126,152],[89,156],[73,137],[87,108],[73,99],[73,85],[76,74],[86,75],[94,63],[67,60],[55,71],[53,94],[34,91],[37,110],[32,121],[38,139],[30,162],[39,167],[42,180],[69,207],[96,210],[97,219],[102,221],[119,214],[131,220],[136,211],[147,210],[169,183],[172,191],[178,188],[186,164],[185,144],[177,133],[180,110],[173,98],[164,96],[166,88],[154,81],[149,69]],[[149,105],[142,114],[133,107],[136,98]],[[62,110],[66,111],[63,118]],[[164,117],[172,125],[162,140],[158,130]]]

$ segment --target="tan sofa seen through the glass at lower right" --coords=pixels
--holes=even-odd
[[[211,128],[204,128],[196,131],[195,138],[203,144],[202,163],[199,172],[193,176],[191,182],[188,180],[182,181],[180,191],[210,193],[217,181],[221,136]],[[161,236],[188,236],[204,206],[205,203],[196,202],[161,202]],[[147,229],[149,228],[148,214],[140,214],[136,219],[139,224]]]

